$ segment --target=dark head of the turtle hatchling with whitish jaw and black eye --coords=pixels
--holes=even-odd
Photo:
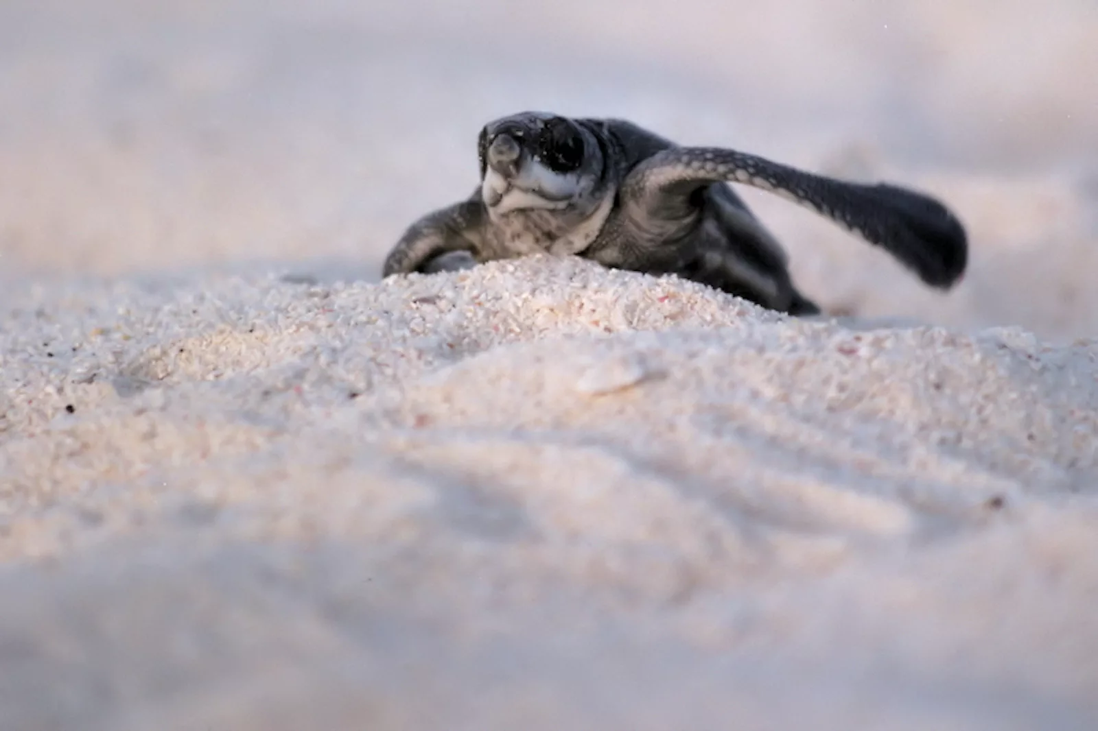
[[[603,155],[591,131],[546,112],[488,123],[478,154],[481,196],[496,215],[587,209],[603,173]]]

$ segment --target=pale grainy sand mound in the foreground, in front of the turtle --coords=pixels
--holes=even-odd
[[[1096,342],[540,257],[68,284],[2,333],[4,729],[1098,712]]]

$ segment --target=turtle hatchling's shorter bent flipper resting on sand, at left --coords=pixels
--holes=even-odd
[[[469,251],[474,258],[483,248],[484,204],[470,199],[423,216],[404,232],[385,257],[382,278],[423,269],[451,251]]]

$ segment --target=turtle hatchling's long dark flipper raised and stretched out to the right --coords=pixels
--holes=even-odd
[[[696,210],[697,192],[714,182],[774,192],[884,248],[931,286],[949,289],[964,273],[968,244],[961,222],[942,203],[886,183],[826,178],[719,147],[673,147],[635,167],[621,189],[638,217],[681,218]]]

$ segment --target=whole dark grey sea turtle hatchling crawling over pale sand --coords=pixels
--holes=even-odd
[[[439,256],[478,262],[575,255],[677,274],[764,307],[819,313],[794,286],[785,251],[729,182],[772,191],[883,247],[927,284],[964,273],[964,227],[939,201],[886,183],[805,172],[719,147],[683,147],[624,120],[522,112],[486,124],[481,183],[413,223],[382,277],[429,271]]]

